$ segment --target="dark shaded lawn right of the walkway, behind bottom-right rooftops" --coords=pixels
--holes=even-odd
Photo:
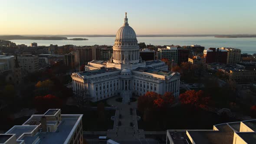
[[[137,110],[137,115],[141,116],[138,121],[138,128],[144,131],[166,131],[167,129],[213,129],[213,125],[225,122],[239,121],[234,118],[220,116],[210,111],[191,111],[181,106],[171,108],[166,111],[166,115],[156,120],[144,121],[143,115]]]

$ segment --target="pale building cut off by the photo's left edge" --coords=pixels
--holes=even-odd
[[[14,69],[14,56],[0,55],[0,72]]]

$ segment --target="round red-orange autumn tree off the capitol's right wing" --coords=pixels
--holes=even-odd
[[[207,108],[210,97],[203,91],[190,90],[179,96],[179,100],[182,105],[194,107],[194,108]]]

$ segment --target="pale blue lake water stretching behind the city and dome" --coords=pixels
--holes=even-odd
[[[92,46],[92,45],[113,45],[115,37],[68,37],[72,38],[86,38],[89,40],[10,40],[14,43],[30,45],[36,42],[38,46],[49,46],[50,44],[63,46],[72,44],[75,46]],[[233,47],[242,49],[242,53],[256,53],[256,38],[215,38],[213,36],[199,36],[199,37],[137,37],[138,43],[146,43],[146,45],[201,45],[206,49],[210,47]]]

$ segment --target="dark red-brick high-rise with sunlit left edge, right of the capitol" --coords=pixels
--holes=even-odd
[[[223,63],[226,64],[227,51],[219,48],[210,48],[203,50],[203,64],[206,63]]]

